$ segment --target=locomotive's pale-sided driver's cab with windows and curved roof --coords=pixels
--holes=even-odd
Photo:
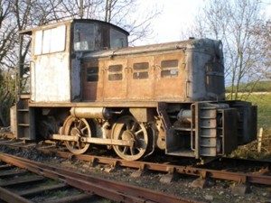
[[[84,19],[33,29],[32,101],[79,101],[82,55],[126,47],[127,36],[128,32],[110,23]]]

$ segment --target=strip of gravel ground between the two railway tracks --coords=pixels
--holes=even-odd
[[[263,202],[271,203],[271,187],[251,185],[245,195],[238,195],[232,192],[236,186],[233,181],[209,180],[206,186],[201,188],[192,187],[194,178],[178,175],[171,183],[159,181],[164,174],[146,171],[141,177],[132,177],[135,172],[129,168],[110,169],[107,165],[91,166],[86,161],[72,161],[50,155],[44,155],[34,148],[27,150],[11,150],[0,145],[0,152],[6,152],[17,156],[22,156],[34,161],[42,161],[51,166],[63,167],[74,171],[79,171],[93,176],[98,176],[107,180],[119,180],[135,186],[145,187],[146,189],[156,189],[161,192],[180,196],[182,198],[192,198],[204,202]]]

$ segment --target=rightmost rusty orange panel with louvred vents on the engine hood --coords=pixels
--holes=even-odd
[[[185,54],[183,51],[155,57],[154,100],[185,101]]]

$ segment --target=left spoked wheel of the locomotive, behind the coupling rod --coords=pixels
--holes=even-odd
[[[70,115],[63,125],[63,130],[65,135],[91,137],[89,123],[85,118],[76,118]],[[90,145],[89,143],[81,143],[74,141],[65,141],[64,143],[68,150],[75,154],[87,152]]]

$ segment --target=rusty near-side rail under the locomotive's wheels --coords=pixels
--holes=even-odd
[[[51,153],[49,149],[40,149],[42,152]],[[218,170],[210,170],[204,168],[190,167],[190,166],[178,166],[164,163],[154,163],[154,162],[146,162],[146,161],[125,161],[121,159],[108,158],[108,157],[100,157],[94,155],[75,155],[70,152],[53,152],[57,156],[61,156],[63,158],[74,158],[81,161],[90,161],[90,162],[98,162],[109,164],[111,166],[123,166],[130,167],[139,170],[150,170],[150,171],[161,171],[173,173],[177,172],[185,175],[198,176],[201,178],[213,178],[220,180],[234,180],[238,183],[254,183],[254,184],[263,184],[263,185],[271,185],[271,176],[265,174],[255,174],[255,173],[244,173],[244,172],[232,172],[232,171],[218,171]],[[269,163],[271,165],[271,161],[265,161],[265,163]]]

